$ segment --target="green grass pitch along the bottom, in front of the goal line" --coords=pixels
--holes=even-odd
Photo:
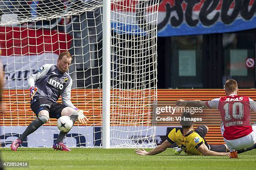
[[[149,149],[148,149],[149,150]],[[137,155],[133,149],[72,148],[71,152],[51,148],[1,148],[4,162],[26,161],[28,168],[7,170],[255,170],[256,150],[239,154],[239,159],[218,156],[174,155],[172,149],[154,156]]]

